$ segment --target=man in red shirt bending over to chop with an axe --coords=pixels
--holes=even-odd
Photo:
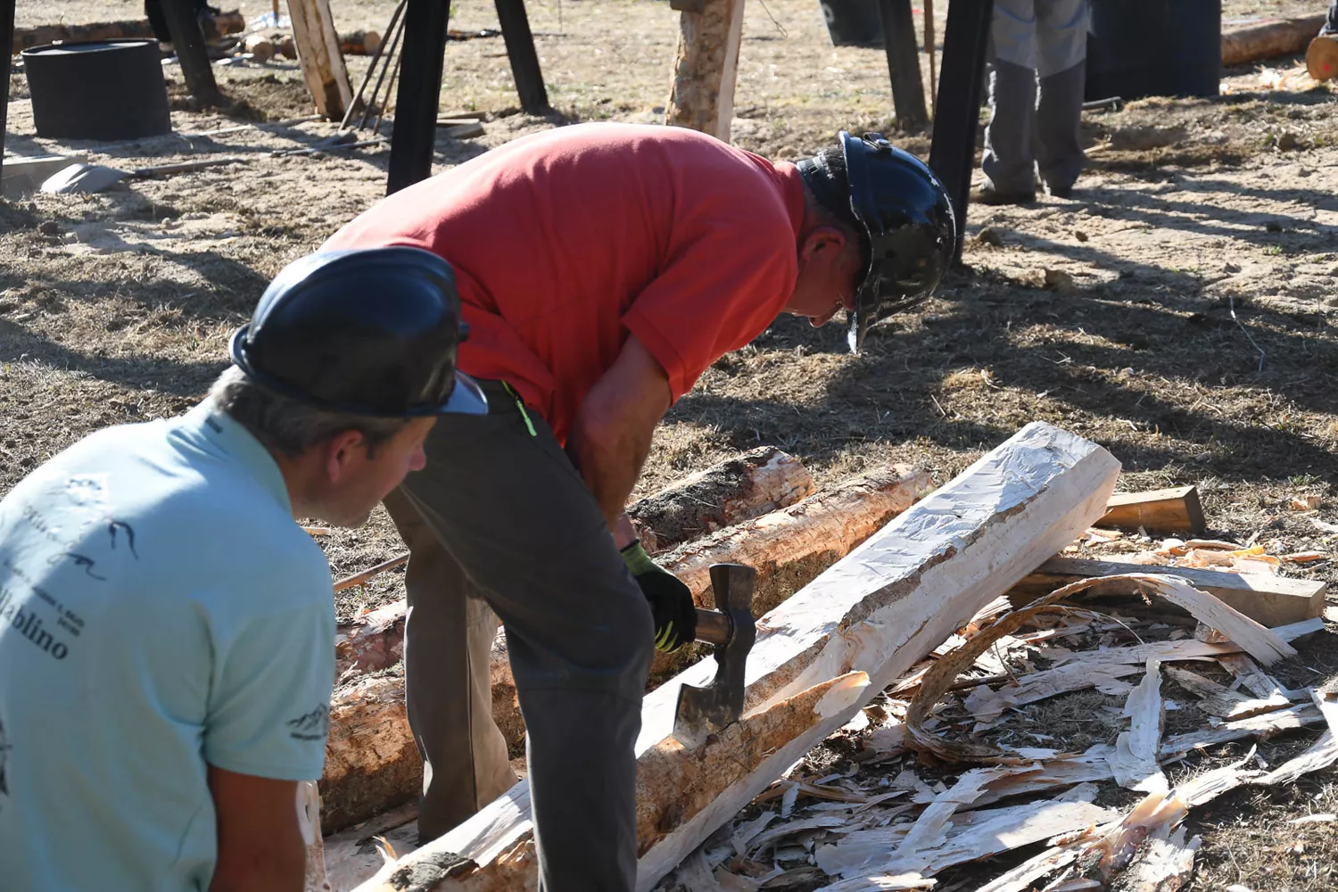
[[[459,368],[490,400],[439,423],[427,471],[385,503],[412,552],[423,840],[515,780],[490,706],[500,617],[541,888],[634,887],[652,643],[681,647],[696,621],[624,515],[654,427],[780,313],[819,326],[844,309],[858,349],[880,312],[938,285],[955,231],[929,169],[876,135],[773,166],[692,130],[581,124],[396,193],[325,245],[448,259],[470,325]]]

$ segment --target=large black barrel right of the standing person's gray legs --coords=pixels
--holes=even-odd
[[[1220,0],[1092,0],[1086,98],[1216,96]]]

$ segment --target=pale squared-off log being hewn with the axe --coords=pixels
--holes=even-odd
[[[777,737],[773,756],[749,766],[743,777],[696,770],[689,800],[673,782],[677,772],[669,772],[666,781],[638,785],[638,801],[661,816],[653,839],[641,840],[638,892],[653,888],[867,698],[1045,555],[1072,542],[1105,510],[1117,473],[1119,463],[1101,447],[1046,424],[1030,424],[764,617],[748,659],[744,722],[772,709],[789,709],[805,691],[850,678],[850,673],[864,673],[868,683],[854,691],[848,706],[797,737],[784,742]],[[673,748],[678,689],[704,683],[713,674],[713,661],[702,661],[646,697],[638,754],[656,758],[665,752],[662,746]],[[701,760],[709,750],[705,745],[674,752],[688,772],[688,766],[708,765]],[[723,756],[709,756],[709,765],[721,764]],[[658,769],[657,774],[664,776]],[[395,876],[393,885],[376,879],[359,889],[534,889],[527,785],[518,784],[474,818],[403,859]]]

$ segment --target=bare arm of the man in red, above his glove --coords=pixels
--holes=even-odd
[[[598,500],[619,548],[636,539],[622,511],[669,400],[669,376],[645,345],[629,336],[613,366],[586,393],[567,435],[567,455]]]

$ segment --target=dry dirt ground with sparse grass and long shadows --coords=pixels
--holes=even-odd
[[[660,120],[677,13],[646,0],[527,5],[557,114],[516,111],[499,39],[452,41],[442,108],[478,114],[486,134],[440,138],[438,170],[563,122]],[[941,36],[946,3],[935,5]],[[383,29],[393,4],[332,7],[341,29]],[[269,3],[241,8],[257,15]],[[1323,4],[1223,8],[1232,20]],[[67,0],[59,12],[66,21],[139,15],[131,0]],[[21,27],[56,15],[20,1],[17,17]],[[460,4],[451,25],[492,28],[496,17],[490,4]],[[365,66],[351,59],[355,82]],[[966,266],[922,313],[876,329],[862,356],[844,352],[836,328],[777,320],[673,408],[640,491],[759,444],[800,456],[819,483],[890,460],[946,480],[1045,420],[1108,447],[1124,463],[1124,489],[1198,484],[1223,536],[1259,534],[1274,554],[1331,550],[1338,103],[1295,66],[1231,70],[1216,99],[1088,115],[1089,169],[1072,199],[971,207]],[[245,162],[96,195],[0,202],[0,493],[91,431],[191,405],[268,280],[384,191],[385,147],[270,154],[334,132],[293,123],[312,111],[296,66],[218,67],[226,111],[194,110],[179,68],[165,71],[177,135],[114,146],[37,139],[21,71],[11,80],[12,152],[80,151],[118,167],[223,151]],[[831,47],[812,0],[748,5],[737,144],[793,159],[839,128],[891,130],[887,94],[880,52]],[[248,122],[258,126],[191,135]],[[926,132],[896,140],[927,152]],[[1321,507],[1293,510],[1302,495]],[[320,542],[336,576],[403,548],[383,514]],[[1307,575],[1338,579],[1333,562]],[[400,579],[383,574],[352,590],[341,617],[403,596]],[[1206,845],[1191,888],[1323,887],[1315,877],[1327,873],[1267,851],[1291,844],[1298,830],[1286,820],[1297,809],[1338,810],[1335,780],[1326,772],[1286,790],[1236,793],[1196,814]],[[1334,849],[1323,847],[1329,869]]]

